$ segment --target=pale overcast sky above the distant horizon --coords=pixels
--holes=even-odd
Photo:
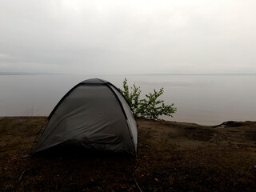
[[[256,73],[256,1],[0,0],[0,71]]]

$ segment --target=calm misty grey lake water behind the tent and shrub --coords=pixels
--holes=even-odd
[[[256,75],[0,75],[0,116],[49,115],[68,90],[87,78],[118,87],[127,78],[142,94],[163,86],[162,99],[178,108],[167,120],[203,125],[256,121]]]

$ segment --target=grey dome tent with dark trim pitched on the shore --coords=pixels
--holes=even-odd
[[[126,98],[110,82],[92,78],[58,102],[31,154],[71,146],[136,156],[137,142],[137,123]]]

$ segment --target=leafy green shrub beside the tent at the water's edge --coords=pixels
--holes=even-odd
[[[122,86],[123,90],[119,90],[126,97],[130,109],[134,114],[134,118],[159,120],[160,115],[168,115],[172,117],[171,114],[174,114],[177,111],[177,108],[174,108],[174,103],[166,105],[164,101],[159,99],[163,94],[163,88],[159,91],[154,90],[153,94],[146,94],[146,97],[140,100],[139,97],[142,91],[139,86],[136,86],[134,83],[134,85],[129,88],[126,78],[122,82]]]

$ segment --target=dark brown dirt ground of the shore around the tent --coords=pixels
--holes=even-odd
[[[0,118],[0,191],[256,191],[256,122],[138,120],[138,158],[23,157],[45,120]]]

